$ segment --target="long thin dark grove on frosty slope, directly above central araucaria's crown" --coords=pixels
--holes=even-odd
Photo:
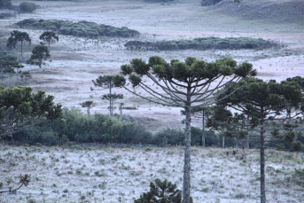
[[[158,41],[158,42],[141,42],[129,41],[125,44],[128,49],[144,49],[144,50],[160,50],[160,51],[174,51],[174,50],[263,50],[276,47],[280,45],[271,41],[263,40],[261,38],[249,37],[205,37],[196,38],[193,40],[173,40],[173,41]]]

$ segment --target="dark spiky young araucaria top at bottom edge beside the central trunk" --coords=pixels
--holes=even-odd
[[[155,179],[155,183],[150,183],[150,191],[144,192],[134,203],[181,203],[182,192],[176,189],[176,184],[168,180],[160,181]]]

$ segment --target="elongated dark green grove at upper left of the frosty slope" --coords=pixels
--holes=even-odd
[[[81,37],[97,38],[100,36],[133,37],[139,35],[136,30],[128,27],[112,27],[105,24],[98,25],[95,22],[67,20],[21,20],[16,23],[22,28],[47,29],[58,32],[60,35],[74,35]]]

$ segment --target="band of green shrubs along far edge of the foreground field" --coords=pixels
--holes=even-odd
[[[221,133],[206,130],[206,146],[221,147]],[[191,145],[202,145],[202,129],[191,127]],[[304,142],[299,133],[298,139]],[[105,114],[88,115],[77,108],[64,109],[58,121],[45,121],[37,126],[21,130],[11,137],[3,137],[7,144],[153,144],[158,146],[184,144],[184,131],[178,129],[162,129],[152,134],[145,129],[140,121],[128,116],[113,116]],[[259,147],[259,140],[251,140],[253,148]],[[284,148],[291,148],[284,140],[271,143],[285,144]],[[241,140],[225,138],[225,147],[242,147]]]

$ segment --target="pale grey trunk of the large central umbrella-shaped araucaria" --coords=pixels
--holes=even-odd
[[[183,203],[191,203],[190,199],[190,172],[191,172],[191,91],[188,90],[186,111],[186,130],[184,137],[184,162],[183,162]]]

